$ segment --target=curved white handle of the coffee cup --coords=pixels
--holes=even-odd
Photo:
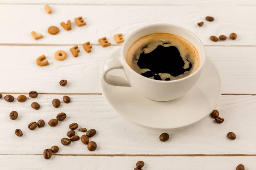
[[[124,69],[122,62],[120,60],[120,57],[118,59],[111,58],[108,59],[103,65],[102,65],[102,75],[101,78],[104,82],[106,82],[109,85],[114,86],[122,86],[122,87],[131,87],[128,80],[125,76],[111,76],[108,75],[108,72],[114,69]]]

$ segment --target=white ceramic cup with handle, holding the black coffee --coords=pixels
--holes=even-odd
[[[130,46],[148,34],[169,33],[176,34],[191,42],[200,56],[200,66],[192,74],[182,79],[171,81],[160,81],[149,79],[135,72],[126,62],[126,54]],[[151,24],[143,26],[133,31],[122,45],[122,54],[119,59],[108,59],[102,65],[102,79],[109,85],[131,86],[142,96],[155,101],[169,101],[184,96],[198,81],[206,60],[206,52],[203,43],[191,31],[172,24]],[[107,74],[113,69],[123,69],[125,77],[115,77],[115,80],[109,79]],[[125,97],[125,96],[124,96]]]

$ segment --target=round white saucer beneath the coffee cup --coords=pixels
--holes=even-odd
[[[110,57],[120,56],[121,48]],[[113,79],[124,75],[122,70],[109,74]],[[197,84],[185,96],[168,102],[146,99],[132,87],[116,87],[103,80],[101,84],[103,96],[117,113],[138,125],[158,129],[177,129],[198,122],[211,113],[221,96],[221,79],[209,58]]]

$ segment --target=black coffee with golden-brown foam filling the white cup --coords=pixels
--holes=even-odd
[[[147,61],[147,57],[151,61]],[[183,37],[156,33],[136,40],[126,54],[126,62],[145,77],[175,80],[195,72],[200,65],[200,57],[197,49]]]

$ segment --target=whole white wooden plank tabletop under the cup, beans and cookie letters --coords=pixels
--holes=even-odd
[[[52,14],[44,11],[49,4]],[[15,102],[0,99],[0,169],[1,170],[133,170],[139,160],[144,170],[235,170],[244,164],[256,169],[256,1],[255,0],[0,0],[0,93],[13,94]],[[214,22],[204,20],[215,17]],[[82,16],[86,26],[77,27],[75,17]],[[71,20],[72,30],[60,23]],[[204,21],[203,27],[197,23]],[[208,56],[217,65],[223,95],[217,109],[225,119],[216,124],[207,116],[197,124],[167,131],[168,142],[160,142],[162,130],[152,130],[122,119],[101,95],[99,66],[120,45],[113,35],[125,37],[139,26],[149,23],[173,23],[198,35]],[[49,26],[60,33],[50,35]],[[43,34],[35,41],[30,31]],[[211,35],[238,34],[237,40],[212,42]],[[102,48],[98,39],[107,37],[113,44]],[[87,54],[81,44],[90,41]],[[79,45],[74,58],[69,49]],[[62,62],[54,59],[58,50],[67,52]],[[38,67],[35,59],[45,55],[49,66]],[[67,79],[68,85],[58,82]],[[38,91],[37,98],[17,102],[17,96]],[[52,99],[67,94],[72,102],[52,107]],[[36,111],[32,102],[41,104]],[[11,111],[19,117],[9,119]],[[29,130],[29,122],[54,119],[57,113],[67,119],[57,127]],[[87,129],[95,128],[92,138],[98,144],[94,152],[81,142],[63,146],[68,125],[77,122]],[[23,130],[23,137],[14,134]],[[233,131],[237,139],[227,139]],[[79,136],[82,133],[78,133]],[[60,151],[45,160],[44,149],[58,145]]]

